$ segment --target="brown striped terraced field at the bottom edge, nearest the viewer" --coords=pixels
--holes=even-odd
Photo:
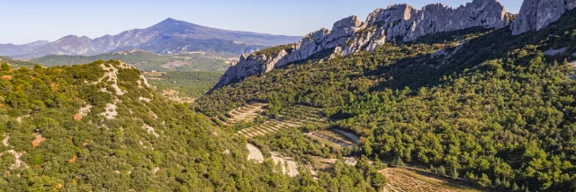
[[[420,174],[418,170],[406,168],[387,168],[381,170],[386,176],[388,183],[384,191],[389,192],[416,192],[416,191],[481,191],[475,188],[468,188],[450,182],[448,179],[441,179],[435,176]]]

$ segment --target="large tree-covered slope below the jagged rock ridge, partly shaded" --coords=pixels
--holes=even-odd
[[[218,116],[251,100],[319,107],[336,120],[329,127],[362,136],[358,156],[499,190],[574,191],[575,23],[571,11],[520,36],[445,32],[287,65],[221,87],[196,108]]]

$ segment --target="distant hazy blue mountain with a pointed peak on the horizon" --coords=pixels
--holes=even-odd
[[[168,18],[146,29],[123,31],[117,35],[105,35],[96,39],[69,35],[54,42],[2,44],[0,55],[17,58],[47,55],[92,56],[129,49],[142,49],[165,55],[193,51],[244,54],[261,48],[293,43],[300,38],[219,30]]]

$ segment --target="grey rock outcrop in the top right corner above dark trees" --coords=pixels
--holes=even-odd
[[[513,35],[539,31],[576,7],[576,0],[525,0],[510,29]]]

